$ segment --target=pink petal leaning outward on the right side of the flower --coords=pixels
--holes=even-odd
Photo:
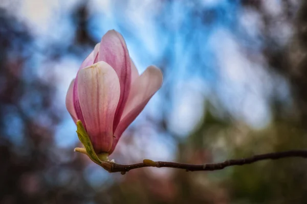
[[[122,118],[114,133],[114,140],[110,154],[128,125],[141,113],[149,99],[162,85],[163,75],[160,69],[149,66],[131,86],[130,94]]]

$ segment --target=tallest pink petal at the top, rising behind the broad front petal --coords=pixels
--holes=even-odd
[[[130,57],[121,34],[115,30],[106,32],[101,39],[98,56],[98,61],[104,61],[112,66],[119,78],[120,98],[113,123],[114,129],[116,129],[129,95],[131,83]]]

